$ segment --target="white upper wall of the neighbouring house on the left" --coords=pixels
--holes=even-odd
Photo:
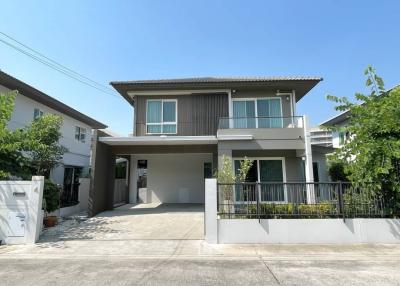
[[[0,92],[10,91],[8,88],[0,85]],[[72,117],[62,114],[52,108],[49,108],[37,101],[34,101],[22,94],[18,94],[15,99],[14,111],[11,120],[8,124],[8,128],[14,130],[22,128],[33,120],[33,112],[35,108],[39,108],[41,111],[51,114],[56,114],[62,117],[63,125],[61,127],[62,138],[60,144],[68,148],[68,152],[64,154],[62,159],[62,165],[71,165],[78,167],[89,167],[90,160],[90,148],[91,148],[91,136],[92,128]],[[85,143],[75,140],[75,126],[86,128],[86,140]],[[63,183],[64,178],[64,167],[60,165],[51,172],[51,179],[58,184]]]

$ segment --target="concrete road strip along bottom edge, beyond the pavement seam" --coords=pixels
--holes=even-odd
[[[1,285],[399,285],[399,262],[0,259]]]

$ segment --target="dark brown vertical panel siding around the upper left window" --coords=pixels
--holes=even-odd
[[[228,116],[226,93],[137,96],[135,98],[136,136],[146,135],[146,102],[148,99],[177,99],[179,136],[216,135],[218,120]]]

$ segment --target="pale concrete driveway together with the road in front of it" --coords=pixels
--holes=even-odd
[[[66,221],[0,246],[0,286],[400,285],[400,245],[209,245],[202,227],[171,206]]]

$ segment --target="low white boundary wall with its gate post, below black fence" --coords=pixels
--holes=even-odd
[[[218,219],[217,182],[205,186],[208,243],[400,243],[400,219]]]

